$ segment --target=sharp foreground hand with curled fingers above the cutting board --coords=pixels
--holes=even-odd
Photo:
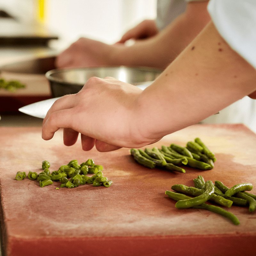
[[[141,92],[111,77],[92,77],[80,92],[54,102],[44,118],[42,138],[50,140],[59,128],[64,128],[64,144],[73,145],[80,132],[84,150],[92,149],[94,144],[99,151],[111,151],[153,143],[155,140],[138,132],[140,119],[147,118],[137,114]]]

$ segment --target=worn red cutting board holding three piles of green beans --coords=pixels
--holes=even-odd
[[[173,184],[221,180],[227,186],[252,182],[256,193],[256,135],[241,124],[198,124],[164,137],[150,147],[186,144],[200,137],[215,152],[210,171],[150,170],[134,162],[129,149],[85,152],[79,141],[62,143],[62,132],[41,139],[40,127],[1,127],[1,224],[4,255],[256,255],[256,215],[232,206],[240,225],[208,211],[178,210],[164,195]],[[40,188],[16,181],[18,170],[40,172],[42,160],[58,169],[72,159],[93,158],[113,180],[110,188]]]

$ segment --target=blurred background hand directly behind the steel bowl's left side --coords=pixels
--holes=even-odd
[[[58,68],[98,67],[111,65],[110,54],[118,46],[89,38],[80,38],[56,58]]]

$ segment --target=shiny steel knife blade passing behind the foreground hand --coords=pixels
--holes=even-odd
[[[136,85],[136,87],[139,87],[141,90],[144,90],[151,83],[153,83],[153,81],[138,84]],[[44,118],[48,110],[52,107],[52,104],[55,102],[55,100],[58,100],[59,98],[61,97],[52,98],[48,100],[41,100],[32,104],[29,104],[27,106],[21,107],[19,108],[19,111],[29,116]]]

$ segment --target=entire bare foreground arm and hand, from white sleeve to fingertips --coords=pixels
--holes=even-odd
[[[99,151],[139,148],[252,93],[255,81],[255,69],[210,22],[144,91],[112,78],[92,78],[79,93],[57,100],[44,119],[42,137],[49,140],[59,128],[71,128],[64,132],[66,145],[80,132],[84,150],[94,143]]]

